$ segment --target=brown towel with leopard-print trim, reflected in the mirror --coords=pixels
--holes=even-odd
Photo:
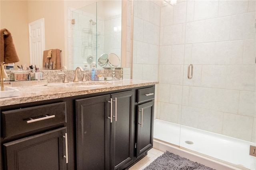
[[[48,55],[50,50],[52,50],[52,57],[49,57]],[[49,69],[60,69],[60,49],[45,50],[43,55],[43,66],[45,66],[45,63],[48,63],[47,66],[49,66]],[[52,67],[50,68],[51,65]]]

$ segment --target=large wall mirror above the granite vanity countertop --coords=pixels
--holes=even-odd
[[[92,16],[90,10],[93,10],[93,8],[88,8],[88,6],[93,6],[96,2],[98,3],[97,8],[95,9],[97,10],[97,15]],[[110,3],[107,4],[108,2]],[[130,0],[124,2],[127,3],[130,2]],[[86,43],[86,41],[84,41],[85,39],[82,39],[83,29],[90,28],[90,26],[92,31],[96,31],[96,33],[100,32],[97,37],[98,45],[96,46],[96,48],[98,47],[98,51],[95,55],[100,57],[103,53],[116,53],[122,60],[123,57],[121,57],[121,53],[123,54],[123,52],[120,52],[120,47],[123,42],[121,42],[120,29],[122,30],[122,36],[126,36],[126,33],[123,34],[123,31],[126,31],[126,29],[120,28],[121,25],[114,23],[116,20],[120,21],[120,18],[115,18],[120,16],[120,14],[117,14],[117,12],[111,14],[111,12],[114,11],[113,8],[119,8],[119,11],[126,12],[127,6],[122,9],[120,6],[122,3],[122,0],[1,0],[0,28],[6,28],[11,32],[16,51],[20,57],[20,61],[15,63],[15,69],[18,69],[16,65],[26,64],[28,66],[33,64],[30,63],[28,24],[39,20],[40,18],[44,18],[45,22],[45,49],[62,49],[60,56],[62,66],[65,65],[68,69],[76,67],[76,63],[83,66],[83,62],[87,60],[89,55],[92,55],[92,49],[90,49],[91,51],[88,51],[87,54],[82,55],[83,42]],[[84,12],[83,8],[87,8],[87,11]],[[71,13],[68,12],[69,10]],[[75,23],[80,24],[70,24],[72,12],[77,12],[79,14],[77,15],[78,19]],[[89,18],[86,18],[86,16],[81,17],[80,14],[86,13],[91,13]],[[96,18],[94,19],[94,17]],[[122,18],[122,24],[123,23],[126,23],[126,21]],[[80,32],[73,32],[73,34],[72,31],[75,29],[72,29],[76,28],[75,25],[79,25]],[[107,28],[107,26],[111,26],[111,28]],[[78,36],[78,34],[81,36],[81,40],[72,40],[73,36]],[[116,34],[116,37],[111,34]],[[126,42],[126,37],[122,37],[122,41]],[[74,49],[76,49],[78,43],[81,47],[77,50],[79,52],[74,55],[73,52],[76,51]],[[124,48],[126,48],[126,45],[124,45]],[[123,49],[122,46],[122,51],[125,51],[124,54],[126,54],[127,50]]]

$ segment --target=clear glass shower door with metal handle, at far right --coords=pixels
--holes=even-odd
[[[256,169],[255,3],[186,1],[180,147]],[[239,6],[239,8],[237,8]],[[174,7],[175,8],[175,7]]]

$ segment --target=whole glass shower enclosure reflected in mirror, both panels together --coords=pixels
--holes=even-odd
[[[73,69],[82,66],[83,62],[97,63],[105,53],[121,56],[121,9],[122,1],[110,0],[72,11],[72,19],[75,20],[72,25]],[[103,66],[102,63],[97,64],[98,69]]]

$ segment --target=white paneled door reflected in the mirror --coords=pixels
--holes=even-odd
[[[43,52],[45,50],[44,41],[44,18],[28,24],[30,65],[43,67]]]

